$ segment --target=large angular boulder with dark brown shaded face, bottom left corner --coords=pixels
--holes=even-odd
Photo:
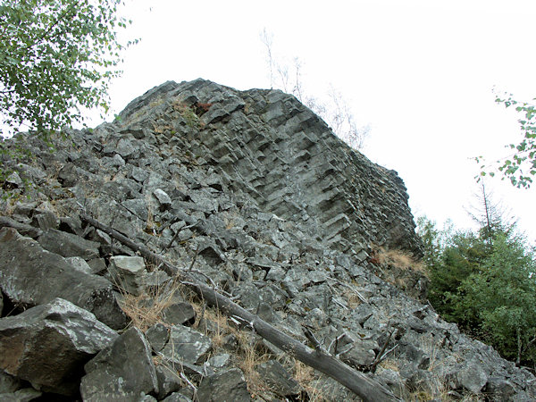
[[[34,387],[73,395],[82,366],[117,334],[61,298],[0,319],[0,368]]]

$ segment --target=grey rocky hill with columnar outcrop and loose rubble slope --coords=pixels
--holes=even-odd
[[[397,173],[293,96],[169,81],[51,141],[21,136],[36,157],[3,160],[5,398],[359,400],[84,216],[297,341],[310,331],[398,398],[535,397],[531,373],[418,301],[421,244]]]

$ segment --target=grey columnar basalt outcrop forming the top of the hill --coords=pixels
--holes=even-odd
[[[121,112],[122,130],[134,137],[147,127],[178,133],[185,127],[180,108],[200,104],[210,106],[190,116],[187,127],[201,130],[185,146],[264,211],[340,250],[359,252],[374,243],[422,255],[397,172],[345,145],[294,96],[207,80],[168,81]],[[117,147],[120,154],[126,148],[124,157],[133,154],[124,140]]]

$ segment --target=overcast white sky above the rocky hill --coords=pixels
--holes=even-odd
[[[299,57],[309,94],[339,88],[372,126],[364,154],[399,173],[414,214],[460,228],[478,192],[471,158],[492,161],[521,139],[492,89],[536,96],[533,0],[131,0],[124,13],[141,42],[111,88],[114,113],[165,80],[270,88],[265,28],[280,59]],[[488,186],[534,241],[536,185]]]

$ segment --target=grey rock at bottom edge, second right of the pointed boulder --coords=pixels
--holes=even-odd
[[[203,401],[250,401],[244,374],[238,368],[206,377],[197,389],[197,398]]]

